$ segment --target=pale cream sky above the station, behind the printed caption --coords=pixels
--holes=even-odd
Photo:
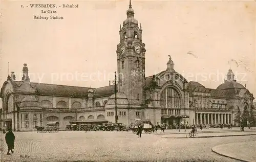
[[[27,63],[31,82],[108,85],[117,70],[119,27],[129,1],[52,1],[78,8],[51,9],[63,16],[59,20],[33,19],[50,14],[30,4],[46,2],[2,2],[0,86],[8,62],[16,80]],[[175,71],[188,81],[217,88],[231,68],[256,94],[255,1],[132,1],[132,8],[142,25],[146,76],[166,70],[171,55]]]

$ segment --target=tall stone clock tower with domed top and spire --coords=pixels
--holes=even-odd
[[[127,18],[120,25],[120,42],[117,45],[118,91],[124,92],[130,105],[144,104],[145,44],[142,29],[134,18],[131,0]]]

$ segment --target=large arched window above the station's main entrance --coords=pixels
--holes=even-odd
[[[168,87],[162,91],[161,107],[164,108],[181,108],[180,97],[176,89]]]

